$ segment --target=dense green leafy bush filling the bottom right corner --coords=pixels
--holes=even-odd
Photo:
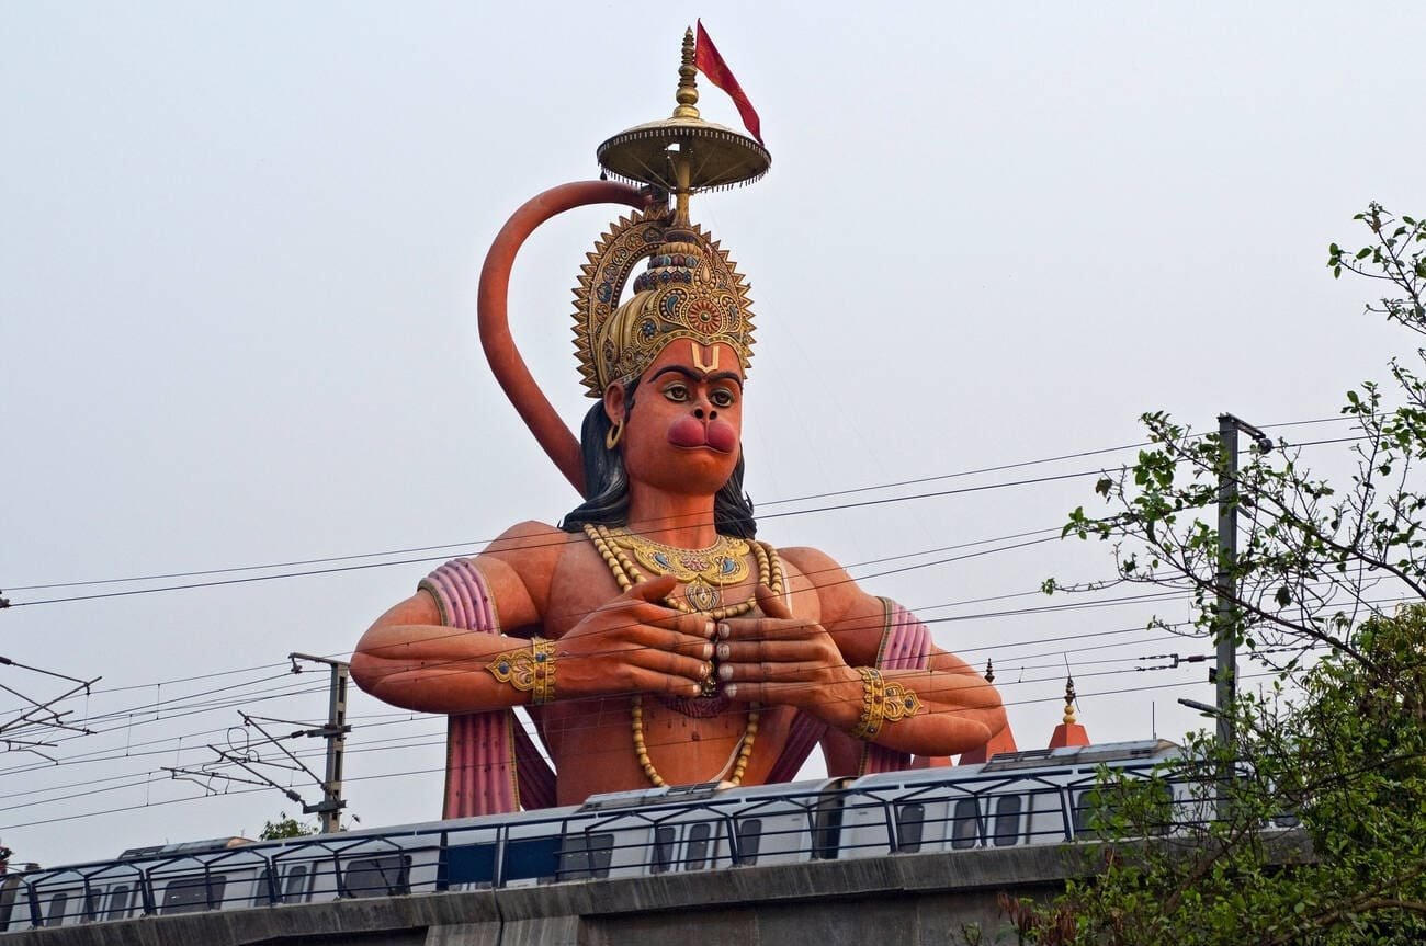
[[[1349,637],[1372,667],[1335,651],[1299,674],[1299,698],[1239,702],[1251,762],[1189,738],[1188,759],[1162,776],[1208,786],[1198,802],[1166,805],[1155,784],[1107,775],[1101,811],[1117,841],[1087,851],[1092,876],[1054,905],[1007,905],[1022,939],[1426,942],[1426,605]],[[1211,816],[1229,759],[1229,806]],[[1291,831],[1299,819],[1305,832]]]

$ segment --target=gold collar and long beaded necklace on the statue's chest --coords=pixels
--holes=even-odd
[[[719,541],[710,546],[709,549],[697,551],[686,551],[682,549],[674,549],[672,546],[656,543],[653,540],[645,539],[643,536],[636,536],[635,533],[630,533],[629,530],[623,529],[615,533],[606,526],[586,524],[585,534],[589,536],[589,540],[595,544],[595,549],[599,551],[599,556],[605,560],[605,564],[609,566],[609,571],[613,574],[615,581],[619,583],[619,588],[622,591],[627,591],[633,586],[643,584],[645,581],[647,581],[647,577],[643,574],[639,566],[636,566],[629,558],[629,556],[625,554],[626,549],[642,547],[646,551],[653,550],[663,553],[662,556],[655,556],[652,551],[649,551],[647,554],[639,556],[639,560],[643,561],[645,566],[647,566],[652,571],[659,573],[660,576],[677,574],[677,567],[673,563],[682,564],[684,571],[697,571],[697,574],[702,576],[704,568],[707,570],[716,568],[717,573],[722,574],[723,568],[726,568],[727,566],[722,563],[713,563],[704,566],[704,568],[694,570],[692,566],[696,564],[696,560],[699,557],[706,557],[712,560],[714,553],[726,554],[733,549],[736,549],[736,546],[732,546],[732,543],[740,543],[742,546],[750,547],[753,557],[757,560],[759,584],[767,586],[767,588],[770,588],[773,594],[783,593],[783,563],[777,557],[777,550],[769,546],[767,543],[761,541],[743,543],[742,540],[733,540],[720,536]],[[665,566],[667,566],[667,570],[665,570]],[[747,566],[742,561],[740,557],[737,566],[740,566],[742,568],[742,573],[739,576],[742,577],[743,574],[746,574]],[[730,573],[734,571],[736,568],[730,570]],[[722,590],[719,588],[719,591]],[[722,594],[717,594],[714,600],[716,607],[710,610],[696,607],[693,604],[693,596],[684,596],[684,598],[679,598],[670,594],[663,601],[670,608],[680,611],[683,614],[707,614],[709,620],[722,621],[723,618],[742,617],[743,614],[752,611],[753,605],[757,604],[757,597],[754,594],[746,601],[739,601],[737,604],[724,605],[722,604]],[[709,672],[709,678],[703,682],[703,691],[706,697],[712,697],[716,690],[717,690],[717,670],[713,668]],[[747,722],[743,727],[743,737],[737,741],[737,748],[734,749],[736,755],[729,759],[729,764],[733,765],[733,772],[729,775],[727,781],[732,782],[733,785],[742,785],[743,782],[743,774],[747,771],[747,761],[753,755],[753,741],[757,738],[757,724],[760,718],[761,718],[761,707],[756,702],[749,704]],[[629,724],[633,732],[633,751],[635,755],[639,758],[639,766],[643,769],[643,774],[650,784],[653,784],[657,788],[663,788],[665,785],[667,785],[667,782],[663,781],[663,776],[660,776],[659,771],[653,766],[653,759],[649,758],[649,747],[643,735],[642,694],[635,694],[633,697],[629,698]],[[719,776],[722,776],[723,772],[727,772],[727,765],[723,766],[723,771],[719,772]]]

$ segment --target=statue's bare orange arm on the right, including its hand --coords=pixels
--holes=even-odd
[[[767,596],[761,603],[763,625],[750,620],[730,628],[730,637],[743,641],[732,653],[732,675],[747,681],[734,692],[740,700],[793,704],[843,732],[854,732],[867,708],[866,680],[858,668],[877,667],[886,603],[857,587],[821,551],[786,549],[781,554],[794,576],[789,601]],[[924,670],[878,672],[888,688],[904,688],[920,704],[914,714],[881,724],[871,738],[880,745],[917,755],[953,755],[984,745],[1005,728],[995,688],[964,660],[934,644]]]

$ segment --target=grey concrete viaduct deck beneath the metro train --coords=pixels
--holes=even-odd
[[[1092,845],[911,853],[272,906],[0,935],[0,946],[943,946],[1048,898]],[[990,942],[990,939],[987,939]]]

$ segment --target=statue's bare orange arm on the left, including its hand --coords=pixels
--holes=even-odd
[[[424,712],[472,712],[525,705],[539,690],[518,688],[489,670],[498,658],[533,658],[530,637],[545,635],[550,596],[570,536],[525,523],[473,558],[496,621],[493,633],[452,627],[436,596],[416,591],[382,614],[352,653],[352,678],[386,702]],[[575,576],[578,581],[578,576]],[[712,655],[712,628],[659,598],[673,580],[635,586],[592,613],[566,621],[546,651],[555,700],[616,692],[694,695]],[[553,635],[553,634],[550,634]]]

